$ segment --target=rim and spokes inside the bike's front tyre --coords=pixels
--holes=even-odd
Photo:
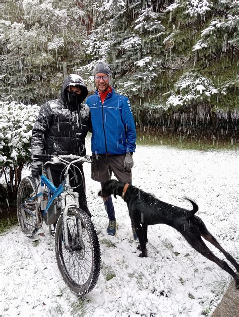
[[[68,215],[67,228],[72,251],[65,248],[61,230],[58,240],[59,256],[71,283],[77,287],[83,287],[92,275],[92,243],[84,224],[74,215]]]

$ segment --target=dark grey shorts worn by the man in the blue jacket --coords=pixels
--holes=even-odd
[[[103,155],[99,154],[100,158],[93,159],[91,164],[91,178],[95,181],[105,183],[111,179],[112,172],[115,177],[126,183],[131,182],[131,170],[127,171],[124,167],[124,155]]]

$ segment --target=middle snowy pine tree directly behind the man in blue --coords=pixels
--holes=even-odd
[[[141,126],[142,110],[156,95],[154,89],[163,72],[162,18],[153,11],[151,1],[104,1],[98,7],[95,29],[84,42],[91,64],[80,71],[90,82],[96,61],[108,62],[115,88],[132,100]]]

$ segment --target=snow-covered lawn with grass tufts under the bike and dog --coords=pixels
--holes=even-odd
[[[90,140],[87,139],[88,153]],[[165,146],[138,146],[133,185],[159,199],[191,209],[209,231],[238,259],[238,156],[235,151],[198,152]],[[194,251],[166,225],[148,228],[148,258],[139,258],[127,206],[114,199],[118,231],[106,234],[108,219],[97,197],[99,183],[84,165],[88,204],[101,245],[102,268],[96,287],[75,296],[59,274],[54,238],[43,225],[39,243],[20,227],[0,237],[1,316],[201,316],[216,308],[231,276]],[[237,218],[237,220],[236,220]],[[111,241],[114,246],[107,246]],[[224,256],[210,248],[221,259]],[[113,273],[115,277],[106,280]]]

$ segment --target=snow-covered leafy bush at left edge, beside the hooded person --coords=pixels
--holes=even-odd
[[[31,130],[39,109],[38,105],[18,104],[16,101],[0,102],[0,167],[7,188],[14,195],[22,168],[30,161]]]

